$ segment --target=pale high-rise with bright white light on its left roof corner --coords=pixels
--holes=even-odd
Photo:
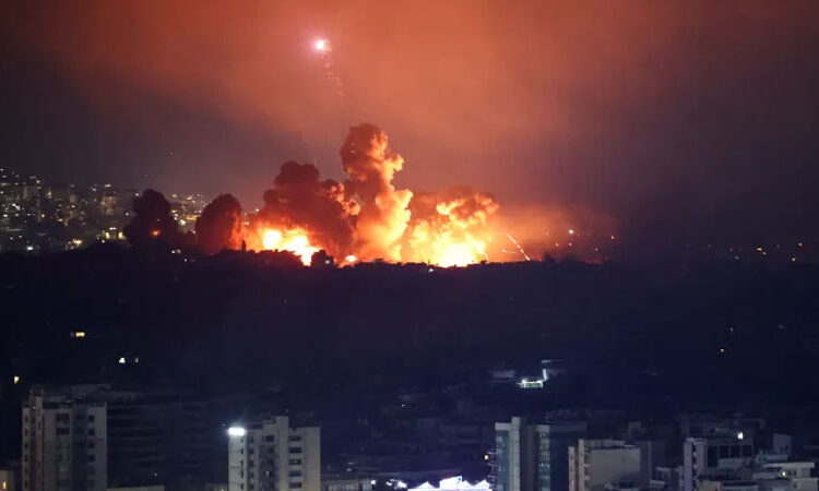
[[[290,428],[289,418],[228,429],[228,491],[320,491],[319,428]]]

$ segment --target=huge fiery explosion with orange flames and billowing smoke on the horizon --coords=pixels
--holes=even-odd
[[[387,261],[450,267],[530,260],[510,235],[521,230],[509,228],[514,224],[501,227],[499,205],[490,194],[464,187],[437,193],[396,189],[393,179],[404,159],[390,149],[378,127],[352,128],[340,157],[347,175],[343,182],[321,180],[312,165],[285,163],[264,192],[262,207],[244,219],[236,199],[217,197],[197,223],[201,249],[288,251],[305,265],[322,250],[343,259],[342,264]],[[571,240],[580,239],[574,229],[569,233]],[[511,250],[503,249],[509,246]]]

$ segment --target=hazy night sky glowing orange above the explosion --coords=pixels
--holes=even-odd
[[[382,127],[400,185],[632,236],[816,237],[819,28],[788,1],[78,1],[0,7],[0,165],[261,203]],[[310,43],[327,36],[345,96]]]

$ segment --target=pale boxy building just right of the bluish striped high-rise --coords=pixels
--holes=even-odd
[[[639,487],[640,448],[620,440],[578,440],[569,447],[569,491]]]

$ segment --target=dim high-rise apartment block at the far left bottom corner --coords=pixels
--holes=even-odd
[[[23,406],[23,491],[105,491],[106,404],[83,386],[35,387]]]

